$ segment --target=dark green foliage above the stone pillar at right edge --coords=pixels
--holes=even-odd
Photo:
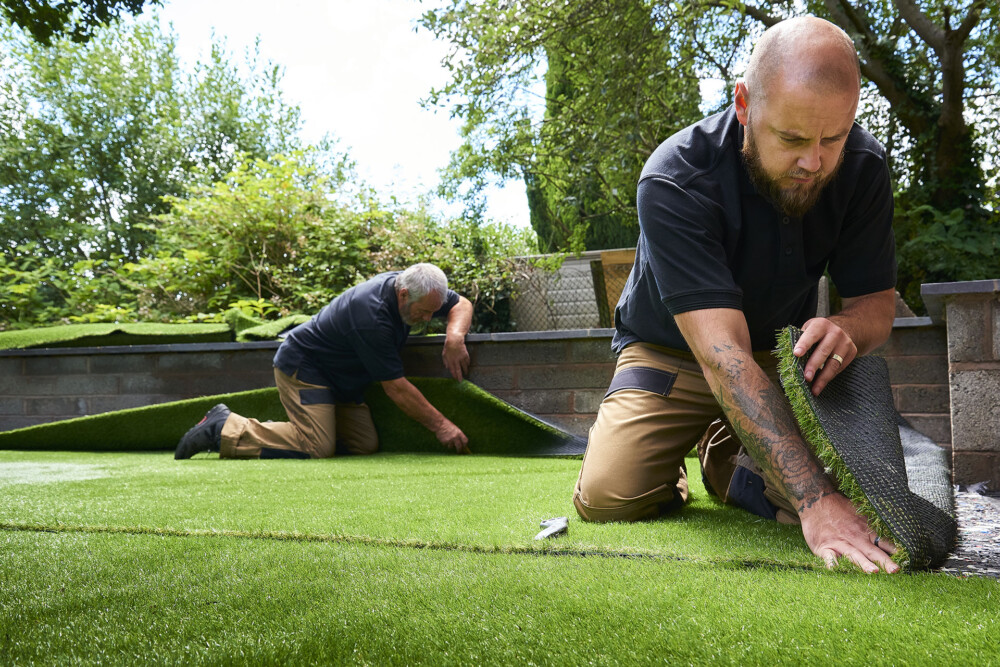
[[[1000,213],[929,205],[906,206],[897,197],[894,227],[899,276],[907,304],[923,306],[924,283],[1000,277]]]

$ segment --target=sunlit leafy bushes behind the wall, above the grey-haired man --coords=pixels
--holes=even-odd
[[[382,271],[433,262],[475,305],[475,331],[510,328],[512,256],[537,252],[534,232],[438,220],[426,205],[347,198],[343,170],[312,155],[244,158],[224,180],[168,197],[138,261],[120,255],[63,268],[37,248],[0,257],[0,328],[59,322],[220,322],[311,315]]]

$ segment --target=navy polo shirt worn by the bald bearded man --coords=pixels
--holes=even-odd
[[[647,342],[690,352],[674,315],[742,310],[754,350],[815,316],[829,271],[842,297],[896,284],[885,150],[855,124],[844,161],[813,208],[786,216],[750,182],[733,107],[663,142],[639,179],[635,265],[615,309],[616,353]]]

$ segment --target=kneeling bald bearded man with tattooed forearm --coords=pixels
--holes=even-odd
[[[637,521],[687,500],[697,446],[709,491],[799,523],[813,553],[895,572],[895,547],[837,491],[802,440],[770,354],[804,333],[819,394],[888,338],[895,305],[885,151],[855,124],[857,53],[799,17],[765,32],[734,104],[667,139],[639,179],[635,266],[615,310],[614,379],[573,501],[588,521]],[[829,272],[843,309],[815,317]]]

